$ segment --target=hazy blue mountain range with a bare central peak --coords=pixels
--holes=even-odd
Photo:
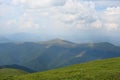
[[[76,44],[54,39],[0,44],[0,65],[19,64],[35,71],[119,56],[120,47],[108,42]]]

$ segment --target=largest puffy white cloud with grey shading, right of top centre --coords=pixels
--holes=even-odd
[[[93,2],[81,2],[78,0],[67,0],[63,6],[51,7],[50,16],[66,24],[78,25],[79,23],[91,22],[96,18]],[[89,8],[88,8],[89,7]],[[84,26],[83,26],[84,27]]]

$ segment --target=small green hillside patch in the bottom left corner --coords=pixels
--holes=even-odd
[[[27,72],[17,69],[3,68],[0,69],[0,80],[9,80],[13,76],[20,76],[27,74]]]

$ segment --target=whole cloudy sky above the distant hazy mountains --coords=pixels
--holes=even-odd
[[[0,0],[0,35],[120,42],[120,0]]]

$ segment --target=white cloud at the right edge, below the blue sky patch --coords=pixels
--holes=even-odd
[[[104,27],[108,31],[120,30],[120,7],[108,7],[103,14]]]

